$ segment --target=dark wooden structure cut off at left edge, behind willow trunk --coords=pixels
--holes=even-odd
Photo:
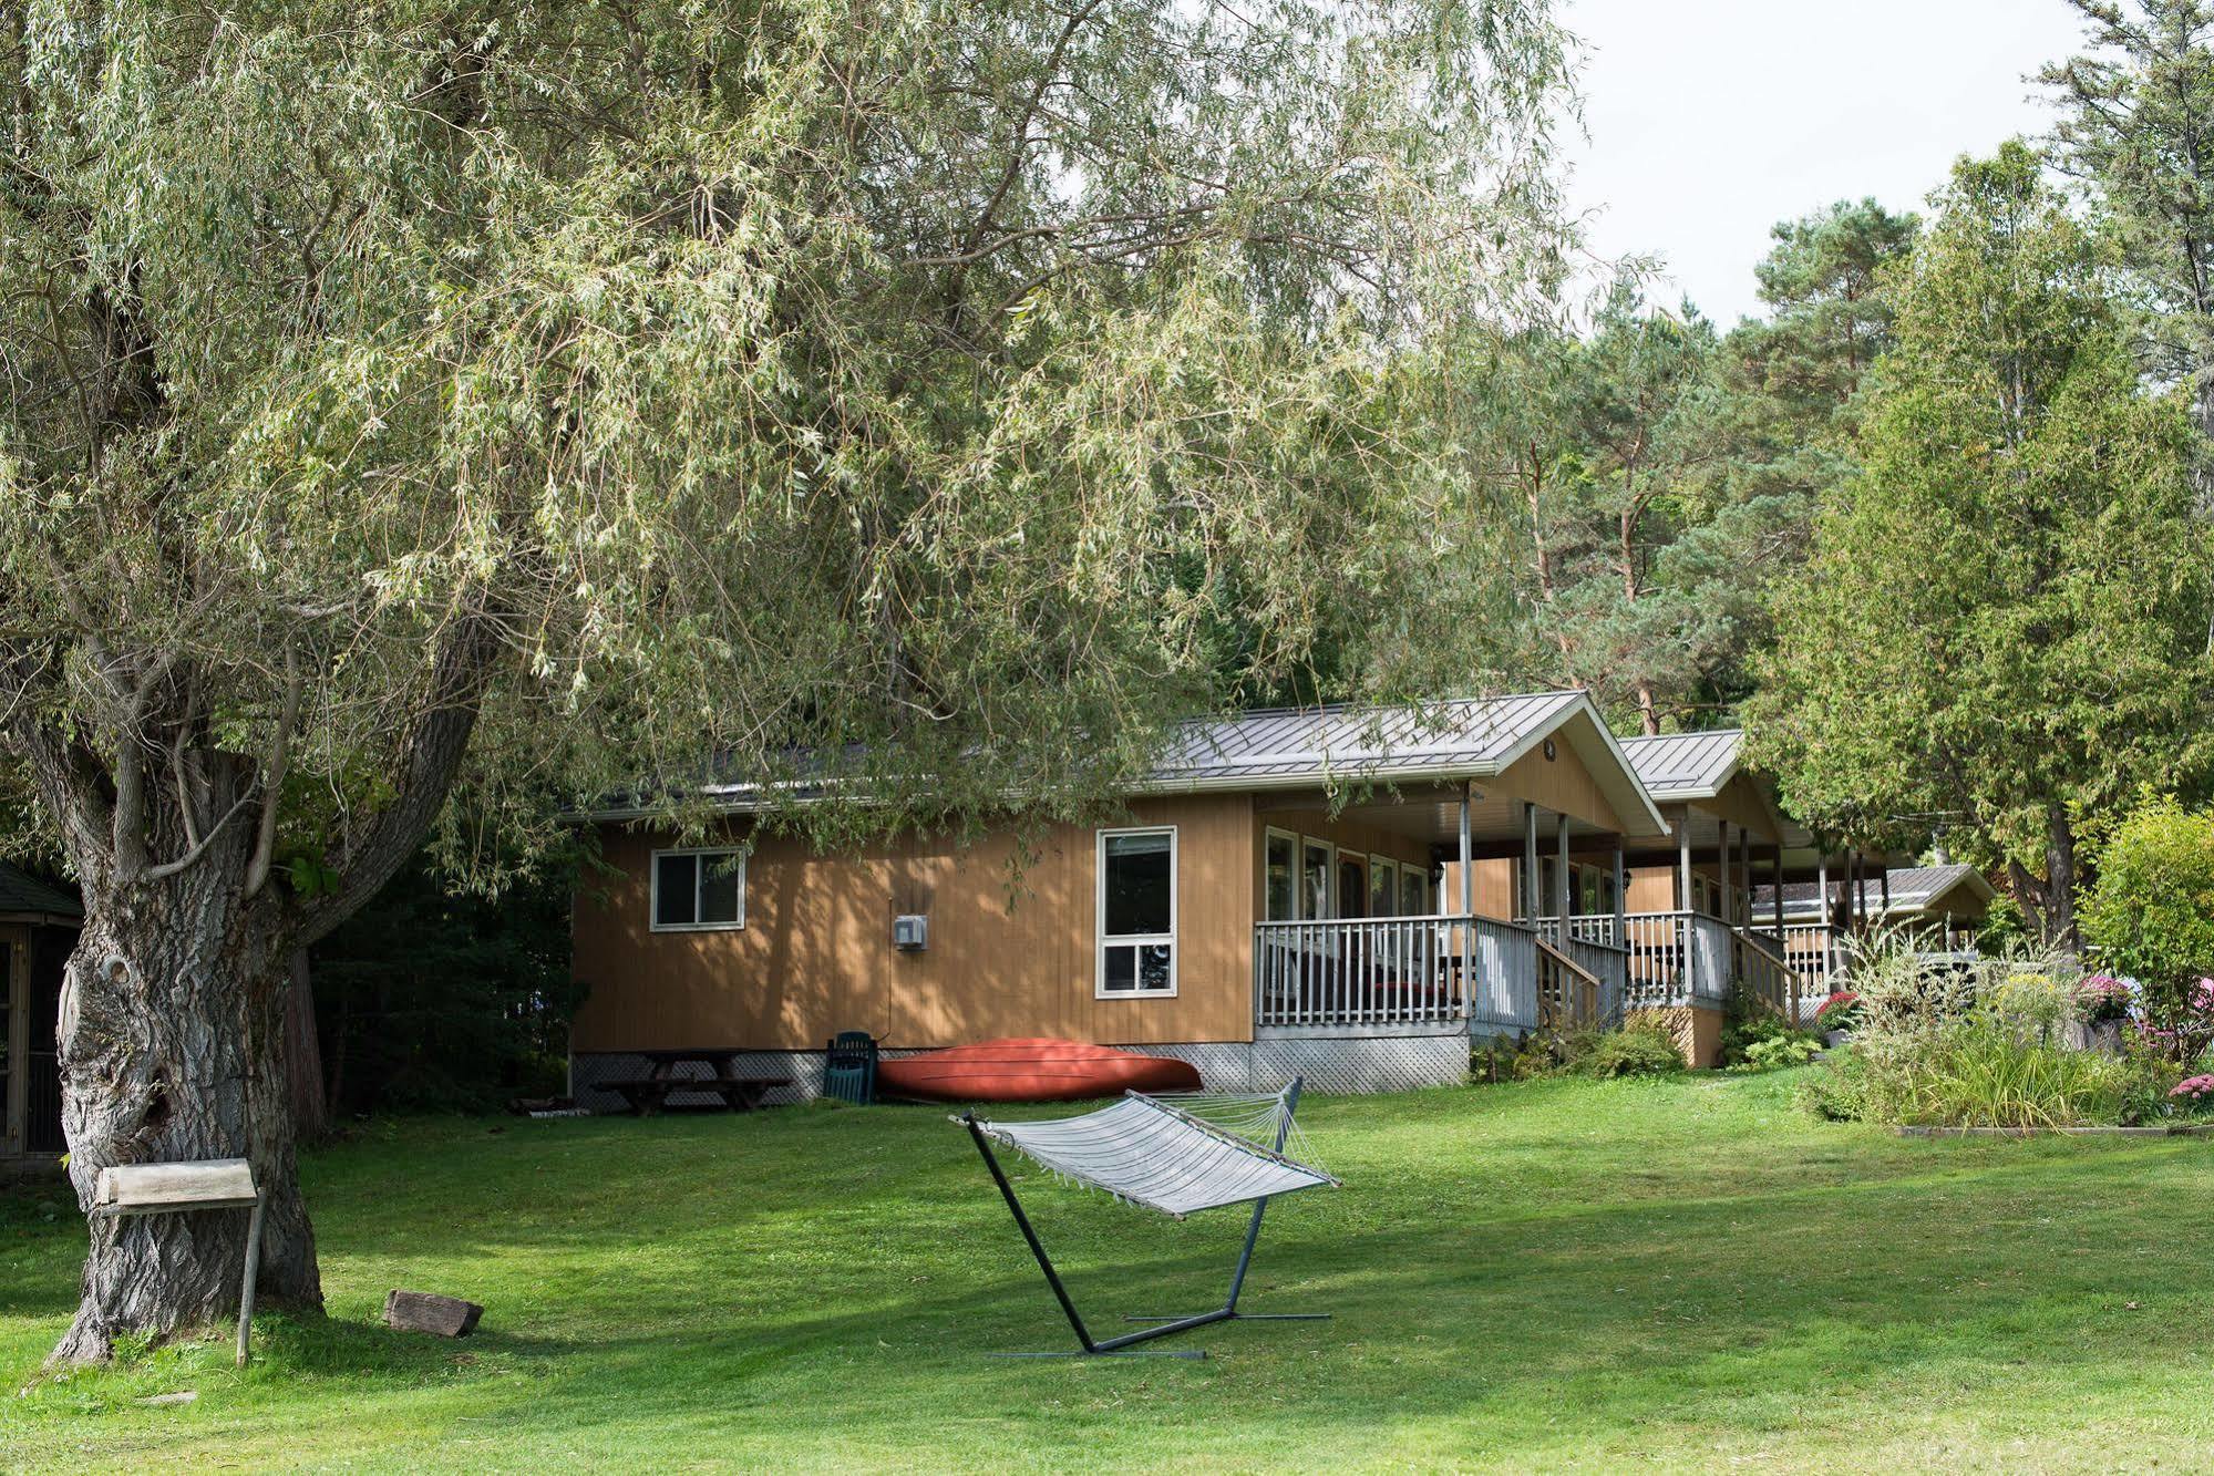
[[[0,1171],[66,1153],[55,1022],[82,925],[75,896],[0,861]]]

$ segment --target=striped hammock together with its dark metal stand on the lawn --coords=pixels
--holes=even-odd
[[[1178,1106],[1182,1102],[1182,1106]],[[1253,1241],[1260,1239],[1260,1219],[1269,1210],[1269,1199],[1291,1195],[1302,1188],[1335,1186],[1328,1173],[1284,1157],[1284,1148],[1295,1135],[1293,1113],[1300,1106],[1300,1080],[1282,1093],[1264,1098],[1149,1098],[1125,1093],[1120,1102],[1103,1106],[1080,1118],[1056,1122],[987,1122],[976,1113],[956,1118],[976,1140],[992,1182],[1007,1199],[1007,1213],[1038,1257],[1045,1283],[1054,1288],[1054,1299],[1076,1330],[1078,1352],[1018,1352],[1012,1359],[1078,1359],[1098,1354],[1125,1354],[1134,1343],[1149,1343],[1173,1332],[1189,1332],[1222,1321],[1322,1321],[1328,1312],[1240,1312],[1238,1292],[1244,1288],[1246,1268],[1253,1264]],[[1187,1111],[1189,1109],[1189,1111]],[[1202,1111],[1227,1113],[1227,1122],[1209,1122]],[[1273,1146],[1264,1140],[1273,1137]],[[1014,1186],[992,1144],[1001,1142],[1036,1160],[1061,1177],[1103,1188],[1125,1204],[1138,1204],[1162,1215],[1182,1219],[1198,1210],[1224,1204],[1253,1204],[1253,1219],[1246,1224],[1244,1248],[1238,1252],[1238,1268],[1231,1272],[1231,1290],[1220,1308],[1189,1314],[1145,1314],[1125,1321],[1156,1323],[1122,1337],[1094,1339],[1085,1319],[1069,1299],[1069,1288],[1061,1283],[1045,1244],[1023,1213]],[[1156,1350],[1147,1350],[1156,1352]],[[1127,1354],[1138,1357],[1138,1354]],[[1158,1357],[1204,1359],[1202,1350],[1158,1350]]]

